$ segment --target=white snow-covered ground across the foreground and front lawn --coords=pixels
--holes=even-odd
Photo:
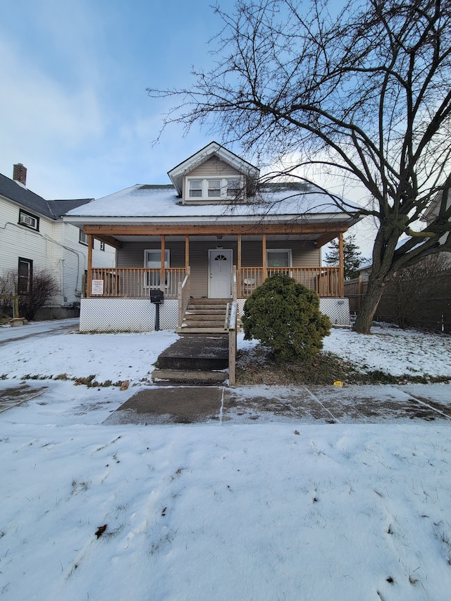
[[[450,598],[451,423],[105,426],[176,336],[2,344],[19,329],[0,328],[0,395],[44,379],[0,413],[0,599]],[[451,374],[450,337],[334,330],[325,348]]]

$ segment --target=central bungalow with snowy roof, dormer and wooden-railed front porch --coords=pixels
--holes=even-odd
[[[117,249],[116,268],[88,256],[80,330],[152,330],[156,311],[161,329],[182,327],[190,299],[237,300],[240,311],[274,273],[316,290],[321,311],[349,323],[342,264],[321,266],[321,247],[339,237],[342,248],[357,206],[345,213],[298,182],[259,185],[259,170],[217,142],[168,175],[171,185],[134,185],[63,217]]]

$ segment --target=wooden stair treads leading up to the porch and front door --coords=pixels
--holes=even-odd
[[[227,304],[230,299],[190,299],[178,334],[220,334],[226,332]]]

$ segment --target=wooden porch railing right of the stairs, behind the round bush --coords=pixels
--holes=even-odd
[[[343,296],[339,267],[268,267],[268,277],[286,273],[320,297],[340,298]],[[247,298],[263,283],[263,267],[242,267],[238,274],[238,297]]]

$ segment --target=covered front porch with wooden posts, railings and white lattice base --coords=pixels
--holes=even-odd
[[[88,256],[80,329],[154,330],[156,306],[150,301],[152,290],[161,290],[164,295],[164,302],[159,305],[161,330],[183,327],[190,299],[236,302],[240,319],[245,300],[266,278],[276,273],[290,275],[297,283],[314,290],[321,299],[321,311],[332,323],[349,325],[342,260],[340,266],[321,266],[323,244],[339,237],[342,249],[340,228],[327,233],[321,225],[265,228],[270,231],[256,234],[254,230],[237,233],[235,227],[225,230],[222,226],[219,230],[217,225],[209,225],[208,230],[200,225],[173,227],[173,230],[165,226],[170,234],[164,235],[163,226],[126,230],[110,227],[108,240],[118,249],[118,266],[93,266]],[[87,226],[85,229],[88,239],[98,237],[106,242],[105,228]],[[201,231],[194,235],[196,230]],[[144,266],[137,266],[143,256]]]

